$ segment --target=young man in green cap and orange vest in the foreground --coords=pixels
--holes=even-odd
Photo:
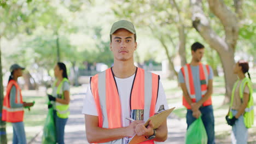
[[[160,77],[134,65],[137,49],[136,31],[130,21],[115,22],[110,30],[110,50],[114,65],[91,77],[84,99],[86,137],[90,143],[127,144],[133,135],[145,136],[142,143],[167,139],[167,123],[153,129],[144,122],[158,112],[160,106],[168,109]],[[143,121],[126,118],[139,114]],[[137,116],[137,115],[136,115]]]

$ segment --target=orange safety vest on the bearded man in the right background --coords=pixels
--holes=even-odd
[[[191,71],[190,64],[185,65],[184,67],[181,68],[182,74],[184,76],[185,80],[185,85],[187,87],[188,94],[193,101],[193,103],[196,102],[196,97],[195,97],[195,87],[194,87],[194,80],[193,80],[193,74]],[[200,76],[200,82],[201,82],[201,93],[202,97],[205,96],[207,92],[207,85],[208,85],[208,77],[210,74],[210,69],[209,65],[204,65],[202,63],[199,64],[199,76]],[[182,103],[187,109],[191,109],[191,106],[188,104],[187,100],[182,98]],[[208,98],[204,103],[203,106],[207,105],[212,105],[212,98]]]

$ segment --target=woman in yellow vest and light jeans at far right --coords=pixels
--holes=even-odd
[[[233,144],[247,143],[248,128],[254,121],[253,86],[248,72],[249,64],[240,60],[234,67],[238,80],[232,89],[231,101],[226,121],[232,126],[231,140]],[[248,74],[249,79],[245,76]]]

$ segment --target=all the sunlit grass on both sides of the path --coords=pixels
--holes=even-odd
[[[252,81],[256,82],[256,69],[251,74]],[[170,105],[176,105],[176,109],[173,111],[181,119],[185,119],[187,110],[182,106],[182,91],[178,87],[177,81],[161,79],[162,85],[165,89],[167,96],[167,102]],[[222,105],[224,100],[224,77],[214,77],[213,81],[214,93],[212,95],[213,109],[214,109],[214,120],[215,120],[215,131],[216,131],[216,141],[218,143],[231,143],[230,142],[230,131],[231,127],[225,123],[225,115],[228,112],[228,105]],[[83,87],[73,87],[71,89],[72,93],[84,92]],[[32,102],[35,101],[35,105],[32,107],[31,111],[25,110],[24,124],[27,142],[42,130],[44,121],[46,118],[46,113],[48,111],[46,105],[46,98],[44,97],[44,92],[30,91],[26,94],[22,91],[24,101]],[[256,89],[254,89],[254,102],[256,105]],[[255,110],[256,112],[256,110]],[[248,143],[256,143],[256,116],[254,118],[254,127],[249,129],[249,139]],[[8,143],[11,143],[13,137],[13,128],[10,123],[7,124],[7,136]]]

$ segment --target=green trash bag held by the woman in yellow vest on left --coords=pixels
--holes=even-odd
[[[46,144],[46,143],[47,144],[52,144],[52,143],[55,144],[56,143],[53,107],[49,108],[48,115],[45,119],[42,143],[43,144]]]

